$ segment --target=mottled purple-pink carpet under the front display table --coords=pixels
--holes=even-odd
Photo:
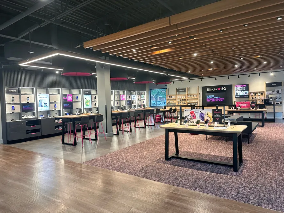
[[[284,124],[266,123],[243,138],[243,166],[233,168],[194,161],[165,160],[165,136],[89,160],[84,164],[200,191],[284,212]],[[179,133],[179,154],[232,162],[232,139]],[[174,134],[169,136],[175,152]]]

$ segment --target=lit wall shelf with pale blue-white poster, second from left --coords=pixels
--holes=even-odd
[[[37,88],[38,118],[55,117],[62,115],[61,89]]]

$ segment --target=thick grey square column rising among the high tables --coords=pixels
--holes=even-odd
[[[108,59],[101,57],[103,59]],[[97,86],[99,113],[104,115],[102,122],[106,136],[113,136],[110,92],[110,65],[97,63]],[[99,136],[103,136],[100,134]]]

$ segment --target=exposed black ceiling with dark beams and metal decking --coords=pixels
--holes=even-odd
[[[0,26],[42,1],[1,0]],[[217,1],[219,0],[55,0],[0,30],[0,63],[15,63],[5,59],[3,46],[12,42],[29,46],[29,32],[33,41],[32,48],[39,46],[46,51],[62,49],[93,56],[107,56],[98,51],[83,49],[80,45],[96,37]],[[35,55],[36,52],[33,56]],[[111,57],[111,60],[135,63],[120,57]],[[151,65],[148,67],[152,68]],[[183,75],[194,77],[190,74]]]

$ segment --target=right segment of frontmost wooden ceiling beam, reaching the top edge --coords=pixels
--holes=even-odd
[[[221,17],[227,17],[229,16],[227,11],[234,12],[233,10],[237,10],[235,14],[238,14],[240,13],[240,11],[238,10],[239,7],[243,7],[247,5],[247,7],[250,8],[249,5],[255,2],[261,2],[261,1],[259,0],[256,0],[256,1],[255,0],[238,0],[238,1],[223,0],[223,1],[215,2],[213,4],[205,5],[199,8],[195,8],[193,10],[188,10],[183,13],[172,15],[171,24],[182,23],[180,25],[180,28],[183,28],[183,27],[194,25],[193,23],[196,22],[194,20],[200,19],[202,17],[209,17],[210,19],[213,19],[213,20],[216,19],[217,15],[214,16],[215,14],[218,14]],[[222,15],[221,13],[224,13],[224,15]],[[201,21],[206,22],[206,20],[207,19],[198,20],[198,22],[199,23]]]

